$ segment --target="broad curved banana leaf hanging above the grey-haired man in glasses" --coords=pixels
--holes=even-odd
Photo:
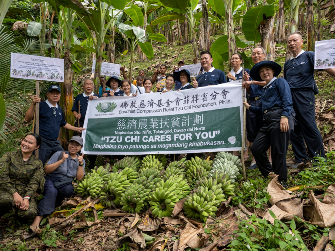
[[[249,9],[243,17],[242,31],[248,41],[254,41],[254,44],[261,41],[259,25],[263,21],[263,15],[270,17],[274,15],[273,5],[262,5]]]

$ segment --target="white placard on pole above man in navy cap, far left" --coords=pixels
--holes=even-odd
[[[64,82],[64,59],[11,53],[12,78]]]

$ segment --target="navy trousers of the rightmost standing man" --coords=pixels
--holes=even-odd
[[[291,91],[297,125],[291,134],[291,144],[295,160],[306,162],[308,155],[324,157],[323,141],[315,121],[315,94],[312,90]],[[308,149],[308,155],[306,146]]]

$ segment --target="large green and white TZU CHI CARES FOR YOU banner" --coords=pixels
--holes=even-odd
[[[241,150],[242,83],[88,102],[85,154]]]

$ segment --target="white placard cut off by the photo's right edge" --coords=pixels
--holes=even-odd
[[[335,39],[315,42],[314,68],[335,68]]]

